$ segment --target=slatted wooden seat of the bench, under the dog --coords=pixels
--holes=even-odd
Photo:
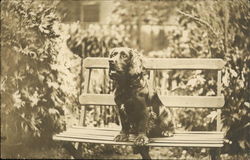
[[[97,128],[73,126],[53,136],[54,140],[112,145],[133,145],[133,142],[115,142],[120,128]],[[152,147],[223,147],[223,132],[189,131],[176,132],[172,137],[150,138]]]

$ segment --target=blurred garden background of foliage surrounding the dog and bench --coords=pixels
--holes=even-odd
[[[222,159],[249,158],[250,15],[247,0],[1,1],[1,158],[70,158],[52,135],[79,122],[82,61],[126,46],[155,58],[222,58],[228,143]],[[91,93],[111,93],[107,71]],[[158,92],[216,95],[212,71],[158,71]],[[113,106],[86,107],[85,126],[118,125]],[[216,112],[175,109],[177,130],[215,130]],[[130,147],[84,144],[86,158],[140,158]],[[154,148],[153,158],[209,159],[199,148]]]

